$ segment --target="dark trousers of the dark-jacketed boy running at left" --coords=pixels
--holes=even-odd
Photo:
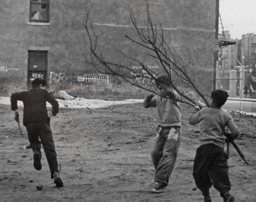
[[[25,125],[28,131],[28,140],[33,151],[40,151],[41,141],[46,153],[47,162],[51,170],[51,178],[54,171],[58,172],[57,154],[52,138],[52,131],[46,122],[30,122]],[[40,140],[39,140],[40,138]]]

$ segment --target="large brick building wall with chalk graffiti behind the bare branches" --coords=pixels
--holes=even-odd
[[[143,0],[1,1],[0,94],[27,90],[33,78],[44,78],[52,90],[66,90],[71,95],[138,95],[123,81],[99,74],[87,63],[90,52],[83,20],[90,10],[95,32],[104,33],[100,45],[105,57],[118,62],[122,59],[117,50],[122,50],[147,61],[149,66],[157,66],[143,54],[143,49],[125,38],[125,34],[137,37],[126,4],[140,11],[140,26],[147,26]],[[149,4],[152,20],[161,23],[166,36],[185,50],[198,67],[206,67],[207,76],[202,83],[211,88],[219,0],[154,0]]]

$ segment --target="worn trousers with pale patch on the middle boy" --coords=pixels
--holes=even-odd
[[[168,184],[181,141],[180,127],[161,127],[151,157],[155,167],[155,182]]]

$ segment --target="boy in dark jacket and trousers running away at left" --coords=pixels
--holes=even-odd
[[[47,162],[51,170],[51,179],[54,179],[56,187],[63,187],[63,182],[59,177],[57,154],[55,151],[52,131],[50,128],[50,118],[47,114],[46,102],[52,105],[52,115],[56,116],[59,112],[58,101],[55,100],[47,90],[40,88],[46,81],[36,78],[32,81],[32,89],[11,94],[11,110],[15,112],[15,120],[18,120],[17,101],[21,100],[24,105],[23,124],[27,128],[28,140],[34,153],[34,168],[41,170],[40,145],[46,153]],[[40,140],[39,140],[40,138]]]

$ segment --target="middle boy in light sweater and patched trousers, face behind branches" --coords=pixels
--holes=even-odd
[[[170,84],[171,80],[167,76],[159,76],[156,85],[161,96],[149,95],[143,102],[145,108],[156,107],[159,122],[151,153],[155,167],[154,181],[157,182],[152,189],[153,193],[161,193],[168,187],[181,141],[181,109],[177,101],[178,93],[170,88]]]

